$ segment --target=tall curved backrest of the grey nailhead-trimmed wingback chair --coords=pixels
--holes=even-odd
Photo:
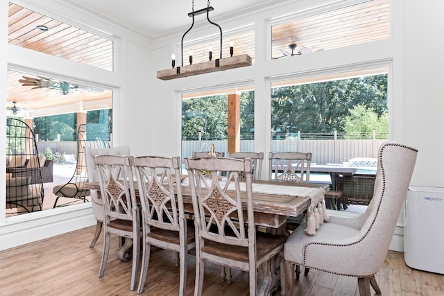
[[[375,192],[364,214],[355,225],[361,234],[366,261],[361,261],[369,275],[384,263],[395,231],[400,209],[407,195],[418,150],[400,143],[386,142],[379,148]],[[364,268],[364,267],[363,267]]]

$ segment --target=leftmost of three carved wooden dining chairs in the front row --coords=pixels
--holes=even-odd
[[[133,157],[98,155],[94,158],[103,201],[104,240],[99,277],[105,274],[111,234],[133,241],[130,290],[135,290],[139,271],[140,218],[135,197]]]

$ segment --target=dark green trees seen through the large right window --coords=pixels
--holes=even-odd
[[[271,90],[271,128],[280,134],[343,131],[355,105],[379,115],[387,111],[387,76],[367,76],[275,87]]]

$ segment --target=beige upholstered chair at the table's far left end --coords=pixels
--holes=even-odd
[[[83,150],[85,154],[88,182],[99,181],[99,178],[97,177],[96,168],[94,165],[94,157],[96,155],[121,155],[121,156],[130,155],[130,148],[128,146],[119,146],[113,148],[93,148],[89,146],[84,146]],[[92,211],[94,213],[94,218],[96,218],[97,220],[96,232],[94,234],[94,238],[92,238],[91,244],[89,245],[89,247],[94,247],[102,231],[103,204],[102,204],[102,199],[99,198],[99,195],[97,195],[96,190],[89,190],[89,191],[90,191],[89,194],[91,195]]]

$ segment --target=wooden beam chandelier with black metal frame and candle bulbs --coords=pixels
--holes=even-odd
[[[212,6],[210,6],[210,0],[207,1],[207,7],[194,11],[194,0],[192,5],[192,11],[189,12],[188,16],[192,17],[193,21],[191,23],[191,27],[182,35],[182,42],[180,43],[180,54],[182,56],[182,66],[175,67],[176,66],[176,58],[174,55],[171,57],[171,65],[172,69],[165,69],[157,71],[157,78],[162,80],[170,80],[180,77],[187,77],[187,76],[194,76],[198,74],[203,73],[211,73],[215,71],[223,71],[227,69],[234,69],[239,67],[246,67],[251,66],[251,57],[249,55],[236,55],[233,56],[233,42],[230,42],[230,57],[229,58],[222,58],[222,28],[218,24],[214,23],[213,21],[210,21],[209,13],[210,11],[214,10]],[[220,58],[217,58],[215,60],[212,60],[212,47],[210,46],[210,49],[208,51],[208,58],[209,61],[207,62],[200,62],[198,64],[193,64],[193,55],[192,51],[190,51],[189,54],[189,65],[184,66],[183,65],[183,40],[185,38],[185,35],[189,31],[191,31],[191,28],[194,26],[194,16],[195,15],[201,15],[203,13],[207,12],[207,20],[210,22],[210,24],[217,26],[219,28],[220,32]]]

